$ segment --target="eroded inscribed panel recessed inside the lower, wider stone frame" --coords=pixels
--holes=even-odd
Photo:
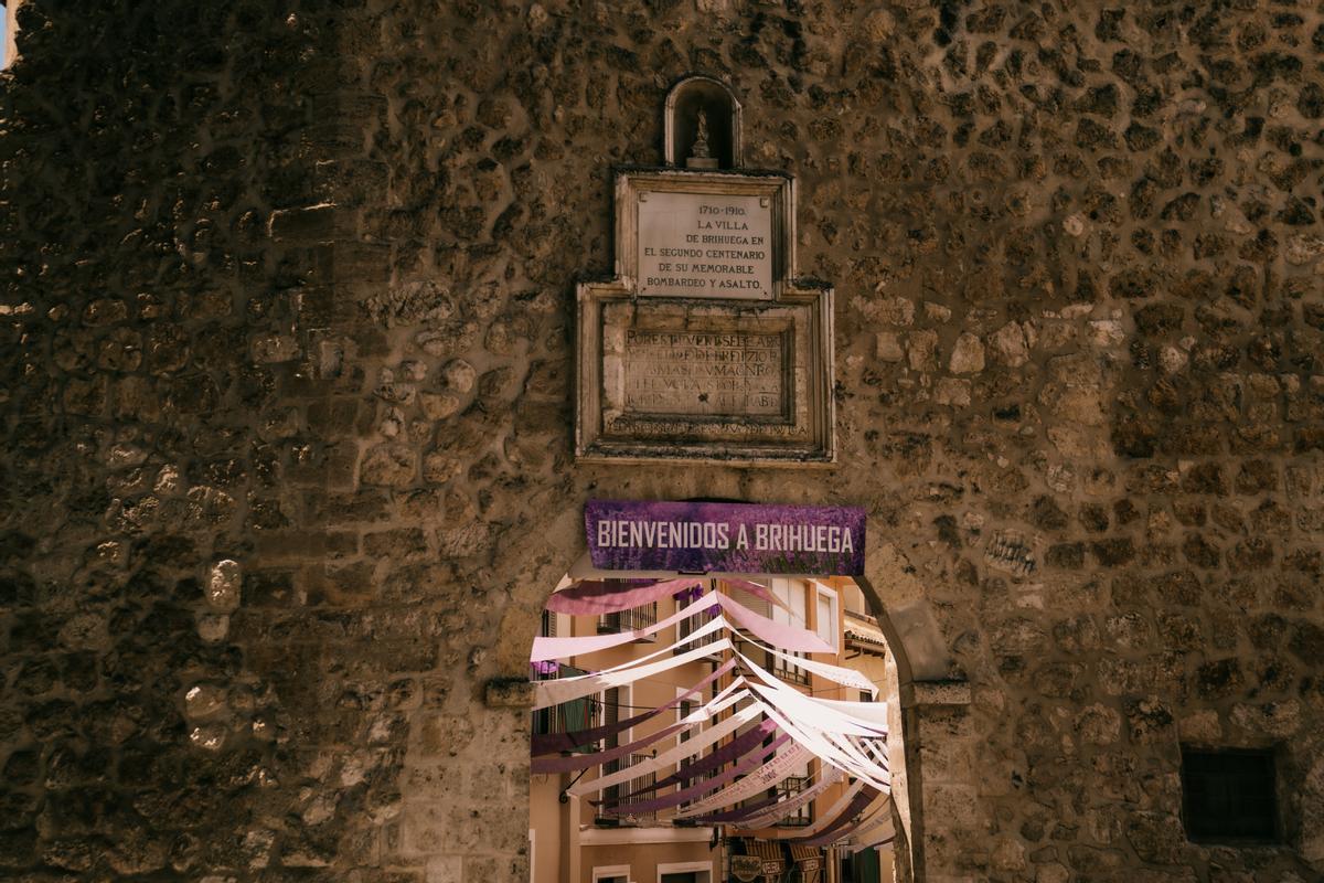
[[[625,409],[651,414],[785,412],[780,334],[625,332]]]

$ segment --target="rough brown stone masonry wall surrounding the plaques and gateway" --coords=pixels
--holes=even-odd
[[[1324,875],[1317,4],[19,21],[0,876],[527,879],[493,682],[594,495],[869,507],[882,613],[919,624],[903,696],[969,698],[907,711],[916,875]],[[694,70],[798,176],[835,467],[571,455],[610,167],[661,162]],[[1186,839],[1182,743],[1279,747],[1280,845]]]

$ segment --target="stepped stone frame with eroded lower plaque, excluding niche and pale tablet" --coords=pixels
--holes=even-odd
[[[639,203],[658,192],[765,200],[771,297],[645,293]],[[614,278],[576,289],[576,459],[835,462],[834,297],[796,277],[794,213],[784,172],[617,171]]]

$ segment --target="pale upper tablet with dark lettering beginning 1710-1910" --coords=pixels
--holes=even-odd
[[[639,193],[639,294],[772,298],[767,196]]]

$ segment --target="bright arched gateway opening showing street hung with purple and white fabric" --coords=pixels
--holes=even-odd
[[[532,883],[920,870],[903,629],[941,645],[890,547],[863,549],[873,567],[855,576],[687,575],[600,569],[579,540],[530,641]]]

